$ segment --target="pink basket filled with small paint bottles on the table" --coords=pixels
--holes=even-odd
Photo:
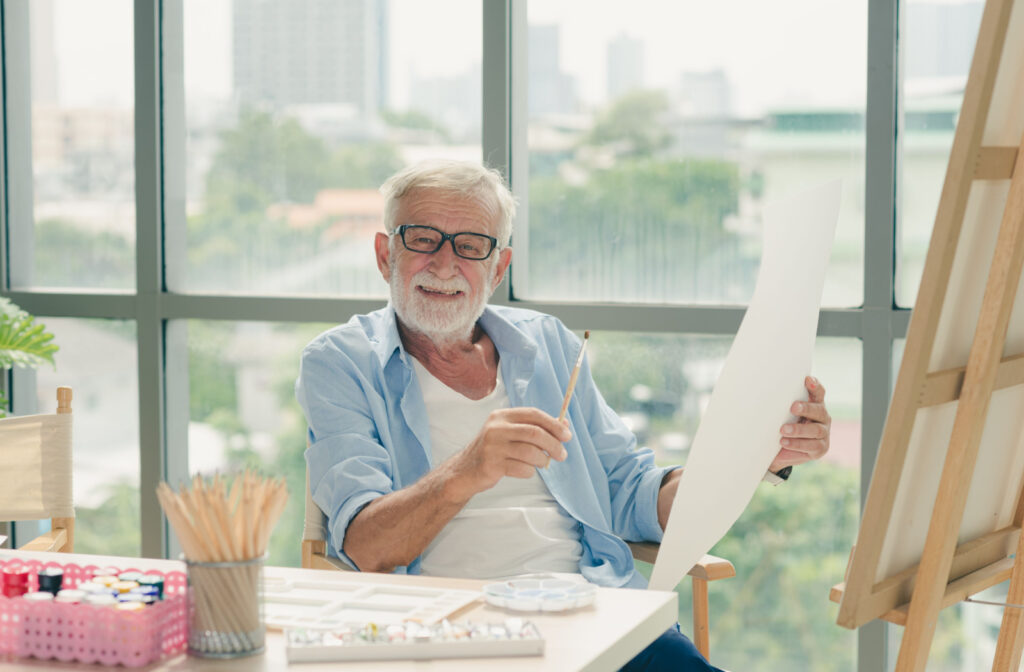
[[[138,667],[184,652],[183,572],[0,558],[0,657]]]

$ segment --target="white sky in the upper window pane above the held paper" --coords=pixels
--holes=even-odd
[[[562,0],[528,10],[531,24],[563,26],[563,68],[581,74],[587,98],[603,90],[605,45],[626,34],[646,45],[646,85],[675,88],[684,71],[722,69],[740,114],[863,104],[866,18],[866,0]]]

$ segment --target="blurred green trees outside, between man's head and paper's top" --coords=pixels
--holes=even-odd
[[[732,163],[624,160],[579,184],[537,178],[529,198],[531,272],[562,292],[582,288],[612,301],[731,299],[756,268],[723,226],[739,207]],[[719,263],[723,255],[740,263]]]

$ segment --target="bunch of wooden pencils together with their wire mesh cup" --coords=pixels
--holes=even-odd
[[[266,544],[288,503],[283,479],[252,471],[230,487],[197,475],[191,489],[157,488],[188,570],[188,653],[204,658],[260,654],[265,625],[260,588]]]

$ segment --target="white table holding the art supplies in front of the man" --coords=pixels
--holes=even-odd
[[[78,564],[134,566],[141,570],[161,572],[183,572],[184,565],[175,560],[154,560],[136,557],[116,557],[108,555],[82,555],[77,553],[37,553],[28,551],[0,550],[0,557],[19,556]],[[286,579],[315,580],[316,577],[337,574],[322,570],[300,570],[294,568],[265,569],[267,577]],[[346,581],[366,583],[387,583],[413,586],[449,587],[460,590],[480,590],[486,583],[470,579],[441,579],[436,577],[409,577],[386,574],[350,573]],[[476,622],[500,622],[510,612],[477,601],[453,616],[453,620]],[[520,615],[516,613],[515,615]],[[266,652],[260,656],[228,661],[207,660],[191,656],[178,656],[146,667],[133,668],[155,671],[220,671],[260,672],[291,669],[295,672],[337,671],[344,669],[391,670],[424,672],[425,670],[480,670],[488,671],[523,670],[531,672],[567,672],[570,670],[617,670],[653,641],[665,630],[675,624],[678,616],[677,596],[674,592],[652,590],[630,590],[625,588],[598,588],[594,603],[588,607],[566,613],[530,614],[528,618],[537,624],[545,638],[543,657],[529,658],[485,658],[445,659],[438,661],[385,661],[379,663],[300,663],[289,666],[285,658],[285,641],[280,632],[267,632]],[[43,669],[85,670],[99,669],[94,665],[61,664],[55,661],[34,659],[0,660],[0,670],[4,672],[39,672]],[[121,668],[126,669],[126,668]]]

